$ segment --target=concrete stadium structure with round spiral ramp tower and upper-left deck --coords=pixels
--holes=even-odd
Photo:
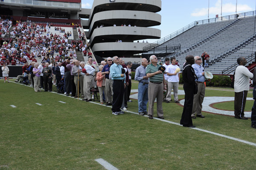
[[[161,0],[94,0],[92,9],[82,9],[81,0],[4,0],[0,14],[41,18],[44,22],[56,19],[56,24],[65,22],[63,19],[80,20],[79,24],[88,29],[84,33],[95,55],[131,57],[142,53],[147,45],[137,40],[161,37],[159,29],[148,28],[161,24],[161,15],[157,14],[161,4]],[[116,43],[118,40],[122,43]]]

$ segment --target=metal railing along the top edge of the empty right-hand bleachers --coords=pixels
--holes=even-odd
[[[252,16],[256,16],[256,11],[232,14],[232,15],[227,15],[224,17],[215,17],[215,18],[211,18],[211,19],[207,19],[207,20],[198,20],[198,21],[190,23],[189,25],[183,27],[182,29],[179,29],[176,32],[173,32],[170,35],[167,35],[166,37],[163,37],[160,40],[157,40],[154,43],[144,46],[143,50],[145,49],[145,51],[149,51],[149,50],[153,49],[154,47],[159,46],[162,43],[165,43],[166,41],[176,37],[177,35],[180,35],[181,33],[185,32],[186,30],[191,29],[192,27],[197,26],[197,25],[204,25],[204,24],[222,22],[222,21],[227,21],[227,20],[235,20],[235,19],[239,19],[239,18],[252,17]]]

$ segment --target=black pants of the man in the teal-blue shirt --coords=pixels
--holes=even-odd
[[[112,103],[112,112],[121,111],[122,100],[124,97],[124,81],[113,80],[113,103]]]

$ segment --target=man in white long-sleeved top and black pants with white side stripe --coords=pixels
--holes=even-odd
[[[236,67],[235,76],[235,118],[247,120],[244,117],[244,107],[246,103],[246,97],[250,86],[250,78],[253,78],[253,73],[245,67],[247,61],[244,57],[239,57],[237,59],[239,66]]]

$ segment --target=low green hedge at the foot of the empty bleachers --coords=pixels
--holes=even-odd
[[[213,75],[211,80],[206,80],[206,86],[230,86],[231,79],[226,75]],[[180,84],[183,84],[182,74],[180,74]]]

